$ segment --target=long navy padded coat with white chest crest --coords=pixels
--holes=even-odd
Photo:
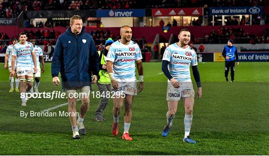
[[[91,35],[82,28],[75,35],[68,29],[59,36],[51,63],[52,77],[62,78],[62,88],[83,87],[91,85],[91,76],[99,73],[99,59]]]

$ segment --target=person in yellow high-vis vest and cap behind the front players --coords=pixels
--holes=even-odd
[[[107,71],[106,58],[107,58],[107,54],[108,54],[110,45],[112,43],[114,43],[114,41],[111,38],[109,38],[106,41],[105,48],[102,51],[98,51],[99,62],[100,62],[100,64],[99,64],[99,68],[100,68],[99,76],[100,76],[100,79],[97,82],[97,87],[98,87],[98,90],[100,92],[100,95],[102,95],[102,96],[100,97],[101,98],[100,102],[99,102],[98,107],[97,107],[97,109],[95,111],[95,119],[97,121],[104,121],[103,113],[104,113],[104,110],[105,110],[105,108],[106,108],[106,106],[108,105],[108,102],[109,102],[109,98],[107,98],[108,96],[106,96],[106,95],[107,94],[110,95],[110,92],[111,92],[111,81],[110,81],[109,74],[108,74],[108,71]]]

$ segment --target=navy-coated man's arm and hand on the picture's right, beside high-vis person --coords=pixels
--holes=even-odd
[[[91,45],[90,45],[90,64],[91,64],[91,71],[93,73],[93,81],[92,83],[96,83],[98,80],[98,75],[99,75],[99,58],[98,58],[98,53],[95,47],[95,43],[93,38],[90,38],[91,40]]]

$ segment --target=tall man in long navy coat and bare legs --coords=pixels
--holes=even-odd
[[[59,36],[51,64],[53,84],[59,85],[61,73],[62,88],[67,93],[69,119],[72,125],[73,139],[80,139],[79,131],[86,134],[83,120],[90,105],[90,85],[97,82],[99,59],[92,36],[85,32],[82,19],[78,15],[70,18],[70,26]],[[93,75],[93,76],[92,76]],[[83,97],[80,114],[76,112],[74,93],[80,90]],[[79,94],[82,95],[82,94]]]

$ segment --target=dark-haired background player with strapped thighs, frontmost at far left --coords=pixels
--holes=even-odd
[[[29,92],[33,86],[33,71],[36,72],[36,57],[33,51],[33,45],[27,42],[26,33],[22,32],[19,34],[19,42],[14,45],[13,51],[11,52],[11,76],[15,75],[15,63],[16,73],[20,84],[20,93]],[[15,62],[16,61],[16,62]],[[32,67],[34,63],[34,70]],[[25,87],[27,81],[27,86]],[[21,98],[21,105],[26,106],[26,99]]]

